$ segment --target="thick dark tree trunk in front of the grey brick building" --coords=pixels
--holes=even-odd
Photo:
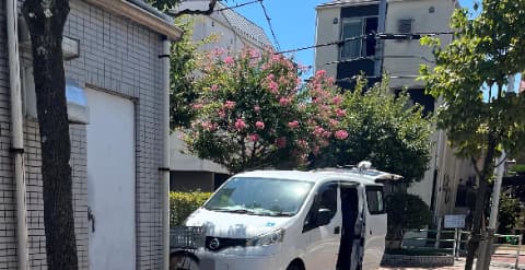
[[[69,3],[67,0],[25,0],[22,11],[33,50],[42,143],[47,268],[78,269],[69,165],[71,143],[61,47]]]

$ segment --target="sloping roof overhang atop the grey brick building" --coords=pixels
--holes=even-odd
[[[101,9],[125,16],[142,26],[145,26],[161,35],[165,35],[171,40],[179,40],[183,31],[173,22],[164,20],[141,7],[126,0],[84,0],[88,3]]]

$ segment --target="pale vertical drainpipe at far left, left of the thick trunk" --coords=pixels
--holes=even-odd
[[[22,118],[22,90],[20,82],[20,57],[18,36],[16,0],[7,0],[9,82],[11,89],[11,152],[14,160],[14,179],[16,181],[16,237],[19,269],[27,270],[27,223],[25,204],[24,134]]]

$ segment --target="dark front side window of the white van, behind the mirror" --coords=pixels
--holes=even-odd
[[[303,233],[316,228],[322,225],[317,221],[317,213],[320,209],[326,209],[330,212],[330,220],[337,213],[337,184],[329,183],[319,187],[319,191],[315,196],[314,203],[306,215],[304,222]]]

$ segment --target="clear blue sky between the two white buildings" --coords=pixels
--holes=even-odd
[[[305,47],[315,43],[315,7],[329,0],[264,0],[281,50]],[[444,0],[435,0],[444,1]],[[248,0],[226,0],[228,5],[248,2]],[[459,0],[462,7],[471,9],[474,0]],[[262,26],[271,38],[268,23],[259,3],[236,9],[245,17]],[[273,39],[272,39],[273,40]],[[312,66],[314,50],[304,50],[294,55],[299,62]]]

